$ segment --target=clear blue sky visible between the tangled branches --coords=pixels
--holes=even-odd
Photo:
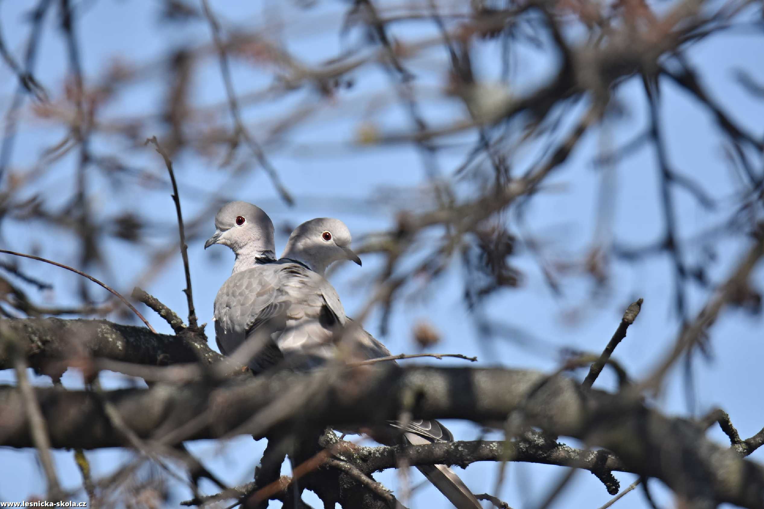
[[[21,13],[26,2],[0,4],[2,34],[11,53],[20,58],[28,24],[22,22]],[[213,9],[226,23],[241,28],[270,26],[278,20],[289,23],[281,35],[286,47],[304,60],[318,63],[335,56],[344,45],[351,43],[338,37],[342,23],[340,2],[319,2],[315,8],[302,10],[292,2],[210,2]],[[83,47],[83,67],[86,83],[92,82],[106,64],[115,59],[122,62],[156,60],[167,54],[170,48],[185,44],[196,45],[210,40],[205,23],[190,24],[183,30],[163,25],[157,21],[159,2],[82,2],[83,14],[78,19],[79,35]],[[384,4],[382,4],[384,5]],[[53,17],[48,15],[46,31],[40,47],[35,76],[54,97],[60,97],[66,76],[66,53],[63,52],[62,36]],[[273,31],[269,32],[269,34]],[[402,25],[394,30],[401,39],[419,38],[435,32],[415,31]],[[487,45],[473,56],[478,78],[496,80],[497,45]],[[525,91],[533,89],[553,70],[554,60],[548,52],[517,47],[513,50],[510,73],[510,89]],[[733,80],[734,69],[743,68],[759,82],[764,82],[762,40],[753,34],[724,34],[698,43],[688,53],[691,63],[701,71],[704,84],[714,91],[714,98],[730,116],[746,126],[756,137],[762,137],[764,104],[756,102]],[[460,118],[465,112],[458,103],[443,97],[436,88],[442,79],[446,65],[445,53],[433,50],[410,64],[418,76],[417,85],[422,86],[423,111],[432,124],[445,124]],[[5,111],[15,88],[15,79],[2,67],[0,72],[0,108]],[[441,71],[432,72],[432,69]],[[240,94],[262,89],[270,85],[272,69],[251,66],[235,61],[233,67],[235,87]],[[439,73],[441,72],[441,73]],[[410,129],[411,123],[405,112],[397,106],[375,111],[369,108],[369,98],[374,94],[392,96],[389,80],[379,68],[363,69],[353,75],[352,89],[338,95],[335,103],[320,99],[314,92],[299,90],[286,98],[274,99],[244,108],[244,118],[254,125],[253,133],[261,136],[274,121],[281,118],[295,105],[316,105],[319,114],[303,127],[290,132],[288,143],[269,150],[269,156],[280,176],[296,197],[296,206],[283,205],[263,172],[254,172],[228,182],[221,194],[225,198],[251,201],[264,208],[278,225],[285,222],[297,224],[312,217],[339,217],[350,227],[354,238],[363,240],[364,234],[390,227],[396,208],[380,203],[374,197],[381,189],[397,196],[404,208],[417,210],[422,201],[412,188],[426,185],[421,159],[413,147],[349,147],[364,123],[373,123],[382,129]],[[429,87],[429,89],[428,89]],[[429,90],[429,92],[428,92]],[[601,143],[620,146],[639,133],[646,125],[647,105],[638,79],[622,85],[617,92],[626,118],[613,121],[604,127],[591,130],[584,136],[571,158],[546,182],[545,190],[535,199],[526,215],[527,234],[542,243],[544,253],[550,260],[571,261],[580,259],[594,238],[597,221],[597,188],[605,172],[614,185],[613,210],[610,221],[613,236],[630,246],[640,246],[657,240],[662,234],[662,211],[658,201],[658,169],[655,153],[651,147],[643,147],[612,169],[597,170],[592,158]],[[214,60],[206,60],[196,72],[193,81],[193,103],[214,104],[225,99],[225,92]],[[121,118],[134,114],[158,111],[162,107],[163,84],[159,79],[121,90],[118,99],[103,112],[103,118]],[[348,106],[349,105],[349,106]],[[28,110],[24,110],[28,111]],[[573,114],[580,114],[580,108]],[[694,198],[681,189],[673,195],[678,207],[681,238],[685,243],[688,261],[698,261],[704,248],[716,251],[717,261],[711,265],[711,279],[723,280],[730,267],[746,248],[740,237],[708,239],[702,234],[708,227],[719,224],[736,205],[736,191],[740,185],[727,169],[723,147],[720,143],[714,119],[698,108],[694,99],[673,85],[666,85],[662,94],[662,127],[669,140],[669,159],[678,172],[697,179],[705,191],[718,202],[715,211],[705,211]],[[222,110],[222,121],[227,113]],[[564,125],[570,126],[575,118],[568,118]],[[510,124],[510,128],[514,124]],[[141,136],[161,135],[163,127],[141,132]],[[24,169],[35,162],[40,151],[63,135],[60,129],[24,115],[13,159],[15,169]],[[470,150],[471,136],[455,137],[457,147],[439,155],[443,175],[447,176],[457,167],[465,153]],[[117,137],[96,137],[94,151],[102,154],[117,152],[137,168],[150,172],[160,179],[167,175],[160,158],[152,150],[129,147]],[[516,155],[514,163],[519,172],[533,160],[533,153]],[[74,154],[59,163],[59,169],[50,172],[28,192],[41,192],[50,204],[60,204],[71,188]],[[203,159],[197,154],[184,153],[175,159],[176,176],[181,183],[180,193],[186,217],[193,217],[202,209],[210,190],[218,189],[228,179],[228,172],[219,169],[219,159]],[[523,166],[525,165],[525,166]],[[759,169],[760,170],[760,169]],[[102,174],[93,171],[89,196],[95,214],[107,215],[117,210],[134,211],[141,217],[160,224],[173,224],[175,212],[168,188],[154,192],[135,185],[112,188]],[[463,191],[465,195],[469,190]],[[510,215],[510,218],[513,217]],[[517,231],[510,219],[510,229]],[[209,217],[209,234],[214,230],[212,214]],[[165,228],[163,237],[152,240],[154,246],[172,242],[175,231]],[[20,224],[4,221],[2,239],[8,249],[30,252],[40,246],[41,256],[62,263],[76,265],[77,255],[70,236],[53,231],[42,224]],[[701,235],[698,238],[698,235]],[[286,235],[277,237],[277,249],[283,247]],[[212,300],[217,288],[230,273],[232,254],[222,247],[202,249],[203,240],[189,245],[196,309],[202,322],[212,319]],[[109,240],[105,252],[112,261],[112,271],[96,272],[108,284],[129,293],[136,277],[141,274],[147,259],[140,249],[121,240]],[[364,256],[364,266],[347,264],[334,275],[346,311],[351,316],[360,311],[373,290],[372,277],[380,268],[380,256]],[[501,292],[486,304],[491,318],[513,327],[516,333],[510,337],[478,337],[470,315],[461,301],[461,270],[458,262],[452,264],[446,274],[428,289],[427,298],[404,296],[393,309],[390,330],[380,337],[393,353],[416,350],[411,339],[411,329],[418,321],[434,324],[442,333],[442,343],[435,346],[438,352],[464,353],[478,356],[482,366],[507,366],[552,370],[558,366],[556,348],[571,347],[578,350],[599,352],[607,343],[620,321],[626,305],[637,297],[645,298],[643,310],[636,323],[629,329],[626,340],[616,351],[617,359],[635,378],[645,376],[672,345],[678,330],[673,311],[672,265],[666,256],[654,256],[638,263],[626,265],[613,260],[612,277],[606,295],[592,296],[592,285],[587,279],[569,277],[563,280],[561,296],[553,295],[545,285],[539,267],[530,253],[523,252],[513,260],[525,275],[523,286]],[[50,267],[34,265],[24,260],[21,266],[28,272],[44,275],[55,285],[53,292],[40,295],[41,301],[60,304],[73,302],[75,298],[73,275],[57,272]],[[764,269],[759,267],[754,275],[759,288],[764,282]],[[162,270],[160,275],[146,286],[147,292],[156,295],[181,315],[186,313],[186,301],[181,292],[184,287],[183,266],[180,255]],[[33,294],[34,295],[34,294]],[[96,294],[98,295],[98,294]],[[707,292],[691,287],[689,309],[698,311],[707,298]],[[149,320],[157,328],[169,331],[167,324],[146,310]],[[575,318],[575,320],[571,320]],[[378,333],[379,316],[367,321],[367,328]],[[698,359],[694,363],[697,413],[701,414],[715,406],[721,406],[730,414],[743,437],[749,437],[764,426],[764,414],[755,401],[760,399],[762,371],[759,367],[764,354],[762,347],[761,317],[751,317],[743,311],[729,311],[712,328],[710,362]],[[536,341],[522,346],[518,341],[521,332],[532,335]],[[208,333],[212,333],[209,328]],[[555,348],[549,348],[548,345]],[[446,365],[450,362],[440,362]],[[121,383],[117,375],[104,375],[108,384]],[[13,375],[0,373],[0,381],[12,380]],[[79,386],[79,375],[69,373],[65,383]],[[40,379],[40,384],[47,383]],[[601,388],[612,388],[613,377],[605,373],[597,382]],[[688,412],[685,392],[681,384],[681,372],[672,374],[667,390],[655,404],[668,414],[686,415]],[[455,436],[470,440],[480,430],[469,423],[449,422]],[[726,443],[726,437],[716,427],[709,433],[714,440]],[[575,444],[575,441],[571,441]],[[254,443],[250,437],[241,437],[227,444],[194,443],[193,451],[202,460],[232,484],[251,479],[254,465],[264,443]],[[55,455],[63,483],[73,487],[79,483],[79,472],[73,465],[72,453]],[[125,461],[121,451],[106,450],[89,453],[96,474],[105,474]],[[764,460],[764,453],[752,456]],[[459,470],[459,469],[458,469]],[[459,470],[465,482],[474,492],[493,492],[497,465],[474,464],[465,471]],[[509,478],[500,496],[512,507],[534,507],[545,496],[545,488],[557,482],[563,469],[526,464],[513,464]],[[398,488],[393,472],[376,475],[377,480]],[[633,482],[633,475],[618,475],[622,488]],[[20,501],[44,491],[44,477],[40,474],[33,451],[0,449],[0,500]],[[421,477],[414,475],[415,482]],[[659,504],[672,504],[671,495],[652,482]],[[212,492],[211,486],[206,486]],[[184,488],[176,493],[185,498]],[[598,507],[610,499],[600,482],[588,472],[579,472],[555,507]],[[173,500],[174,501],[174,500]],[[620,507],[646,507],[639,492],[619,501]],[[273,503],[274,507],[278,504]],[[410,507],[448,507],[434,488],[422,488],[409,504]]]

